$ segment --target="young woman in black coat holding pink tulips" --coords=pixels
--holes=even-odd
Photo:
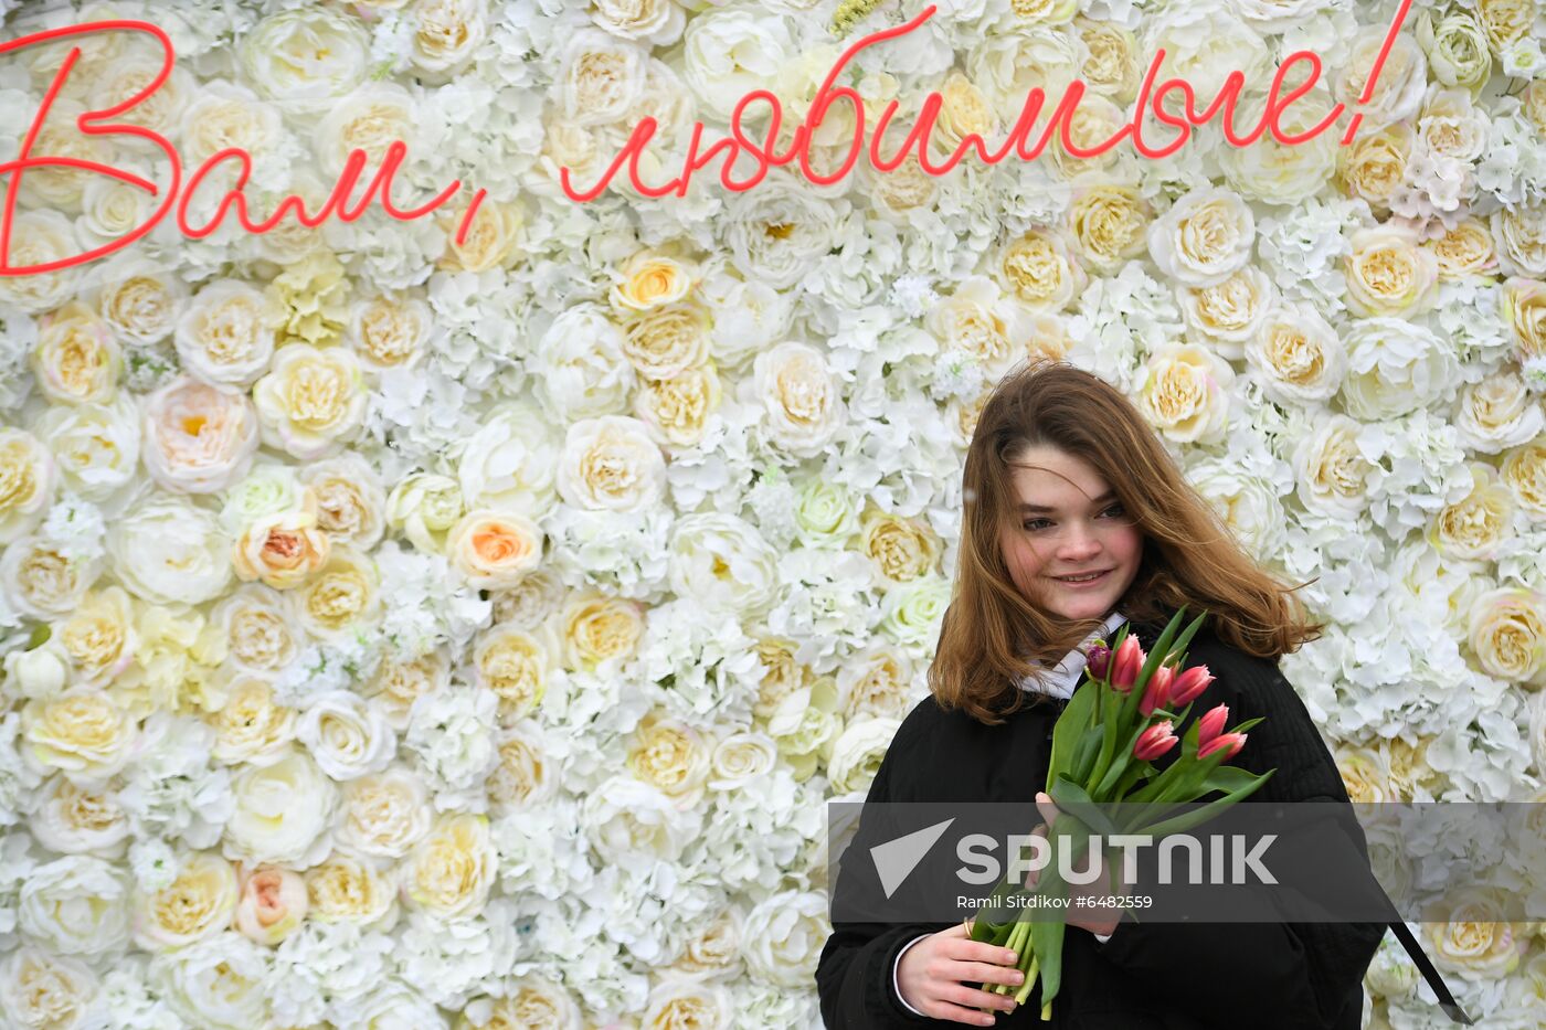
[[[1279,656],[1316,639],[1302,603],[1248,557],[1133,405],[1096,376],[1037,362],[988,399],[966,453],[955,595],[932,697],[904,719],[867,801],[1013,801],[1045,787],[1051,728],[1082,645],[1124,622],[1152,650],[1175,611],[1209,619],[1187,663],[1215,677],[1192,711],[1268,716],[1234,759],[1275,767],[1252,801],[1347,803],[1336,764]],[[1045,810],[1045,809],[1044,809]],[[1350,820],[1351,821],[1351,820]],[[1364,852],[1362,834],[1353,823]],[[864,820],[855,841],[866,834]],[[850,846],[846,854],[861,849]],[[866,872],[866,869],[869,872]],[[844,861],[838,894],[875,878]],[[1102,882],[1087,889],[1107,889]],[[1013,956],[960,923],[836,923],[816,970],[827,1027],[968,1024],[1074,1030],[1353,1030],[1382,923],[1136,923],[1071,917],[1051,1022],[1013,1007]],[[1404,929],[1404,928],[1402,928]],[[1037,988],[1039,990],[1039,988]],[[1011,1011],[1013,1010],[1013,1011]],[[1008,1015],[1005,1015],[1008,1013]]]

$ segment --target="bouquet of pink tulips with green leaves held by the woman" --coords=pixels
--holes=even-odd
[[[1110,840],[1115,834],[1146,834],[1160,840],[1166,834],[1190,829],[1245,800],[1275,772],[1252,775],[1224,766],[1246,742],[1246,730],[1260,722],[1248,719],[1224,730],[1228,705],[1217,705],[1195,719],[1177,736],[1175,727],[1186,722],[1192,702],[1201,696],[1214,677],[1206,665],[1184,668],[1186,645],[1201,626],[1207,612],[1194,619],[1186,629],[1175,629],[1186,608],[1175,614],[1155,643],[1153,654],[1144,654],[1138,637],[1127,636],[1124,625],[1112,646],[1098,640],[1087,653],[1085,685],[1073,693],[1053,727],[1053,752],[1047,769],[1047,793],[1059,809],[1057,835],[1048,834],[1053,860],[1040,869],[1031,888],[1006,877],[993,900],[971,920],[971,939],[1013,950],[1025,981],[1019,988],[989,984],[988,991],[1008,994],[1025,1002],[1037,981],[1042,985],[1042,1019],[1051,1019],[1051,1004],[1062,981],[1062,920],[1011,919],[994,923],[985,911],[1030,912],[1062,908],[1068,885],[1059,872],[1056,849],[1070,849],[1068,868],[1090,844],[1091,832]],[[1163,772],[1153,761],[1181,753]],[[1166,812],[1180,804],[1198,801],[1211,793],[1223,796],[1180,815]],[[1091,809],[1096,804],[1127,803],[1133,813],[1119,823]],[[1019,894],[1042,895],[1037,903]],[[1067,911],[1062,908],[1062,911]]]

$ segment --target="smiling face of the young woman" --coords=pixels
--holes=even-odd
[[[1064,619],[1104,619],[1138,575],[1142,532],[1093,466],[1056,447],[1020,453],[1010,469],[1014,529],[1003,561],[1020,594]],[[1102,572],[1088,583],[1065,577]]]

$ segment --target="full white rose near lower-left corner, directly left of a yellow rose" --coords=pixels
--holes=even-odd
[[[17,926],[63,954],[105,956],[128,943],[128,877],[114,863],[66,855],[22,882]]]

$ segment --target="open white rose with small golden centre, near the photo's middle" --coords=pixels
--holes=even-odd
[[[671,532],[671,589],[710,612],[758,614],[778,597],[778,555],[737,515],[685,515]]]

